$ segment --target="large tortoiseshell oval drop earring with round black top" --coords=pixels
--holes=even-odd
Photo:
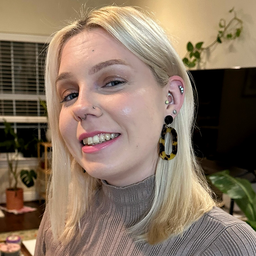
[[[173,121],[173,117],[172,116],[166,116],[164,118],[164,128],[162,130],[161,136],[160,136],[160,156],[161,158],[163,158],[164,160],[171,160],[173,159],[176,155],[177,155],[177,147],[178,147],[178,135],[177,132],[174,128],[171,127],[171,123]],[[167,132],[172,133],[172,153],[171,155],[167,155],[165,152],[165,135]]]

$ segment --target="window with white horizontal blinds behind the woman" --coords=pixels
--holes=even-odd
[[[46,44],[0,41],[0,119],[46,122],[44,94]]]

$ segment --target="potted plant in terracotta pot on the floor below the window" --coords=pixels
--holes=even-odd
[[[8,210],[19,210],[23,207],[23,189],[18,188],[18,178],[20,177],[21,181],[29,188],[34,185],[36,172],[34,170],[18,171],[20,151],[26,149],[30,142],[25,144],[22,138],[18,138],[11,124],[6,121],[4,121],[4,134],[5,140],[0,143],[0,147],[4,147],[7,152],[9,187],[5,190],[6,207]]]

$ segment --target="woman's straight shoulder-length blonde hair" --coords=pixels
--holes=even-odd
[[[178,154],[171,161],[159,157],[152,207],[142,220],[129,228],[137,240],[157,244],[181,234],[210,211],[214,202],[192,149],[194,99],[186,68],[164,30],[148,14],[135,7],[108,6],[93,10],[57,32],[49,45],[45,84],[52,130],[52,182],[49,189],[52,232],[55,238],[69,241],[101,185],[98,179],[82,172],[82,167],[71,156],[61,137],[61,107],[55,88],[63,45],[70,37],[93,28],[106,30],[148,65],[160,86],[165,86],[173,75],[181,76],[185,81],[184,103],[172,123],[178,133]],[[166,143],[171,144],[170,138]]]

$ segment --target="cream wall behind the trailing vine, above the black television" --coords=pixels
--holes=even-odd
[[[210,59],[201,68],[254,67],[256,66],[256,1],[255,0],[131,0],[155,12],[156,18],[172,36],[175,49],[183,57],[188,41],[204,41],[211,44],[219,30],[221,18],[227,21],[233,16],[228,13],[233,6],[238,17],[244,21],[244,32],[234,42],[217,45]]]

